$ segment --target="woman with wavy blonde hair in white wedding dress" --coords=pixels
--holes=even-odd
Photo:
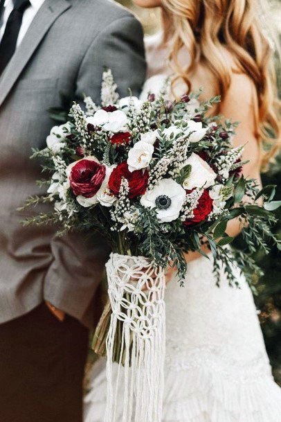
[[[161,89],[173,74],[174,95],[203,87],[203,96],[221,94],[213,110],[241,122],[235,146],[244,145],[246,177],[260,182],[260,168],[278,150],[271,48],[255,14],[254,0],[135,0],[163,10],[163,33],[147,39],[149,79],[143,96]],[[267,132],[268,133],[268,132]],[[262,150],[262,139],[271,142]],[[228,234],[237,236],[239,222]],[[271,375],[251,290],[237,271],[231,288],[221,271],[217,288],[212,258],[186,255],[185,287],[169,274],[165,294],[167,345],[163,422],[278,422],[281,391]],[[169,279],[169,276],[167,276]],[[103,422],[106,373],[93,368],[85,398],[84,422]],[[122,421],[122,401],[118,403]],[[126,421],[132,422],[132,421]],[[137,421],[146,422],[146,421]]]

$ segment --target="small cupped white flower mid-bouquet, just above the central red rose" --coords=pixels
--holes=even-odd
[[[128,169],[129,171],[141,170],[148,166],[152,160],[152,154],[154,152],[154,146],[145,141],[138,141],[134,144],[128,152]]]

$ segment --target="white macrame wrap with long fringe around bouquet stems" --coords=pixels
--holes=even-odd
[[[107,336],[105,422],[161,422],[165,360],[165,274],[141,256],[111,254],[107,262],[112,315]],[[154,278],[156,275],[156,278]],[[113,371],[114,340],[122,326],[118,372]],[[120,371],[124,371],[119,377]],[[114,373],[114,376],[113,376]],[[123,378],[124,377],[124,378]],[[122,383],[120,383],[120,378]],[[120,419],[118,419],[120,422]]]

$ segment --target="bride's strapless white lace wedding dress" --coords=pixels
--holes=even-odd
[[[148,63],[158,75],[147,81],[148,91],[159,89],[167,75],[165,51],[149,60],[155,45],[150,39]],[[212,258],[202,257],[188,265],[183,288],[175,280],[167,285],[163,422],[281,421],[281,390],[271,375],[253,296],[244,276],[236,276],[239,289],[228,285],[223,271],[218,288]],[[104,421],[106,391],[100,360],[84,399],[84,422]]]

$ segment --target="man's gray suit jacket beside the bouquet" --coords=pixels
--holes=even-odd
[[[110,0],[46,0],[0,79],[0,323],[51,301],[91,326],[93,295],[109,252],[101,238],[55,237],[55,227],[23,227],[26,197],[40,192],[39,163],[60,107],[60,91],[100,100],[104,67],[127,95],[141,91],[145,58],[141,24]]]

